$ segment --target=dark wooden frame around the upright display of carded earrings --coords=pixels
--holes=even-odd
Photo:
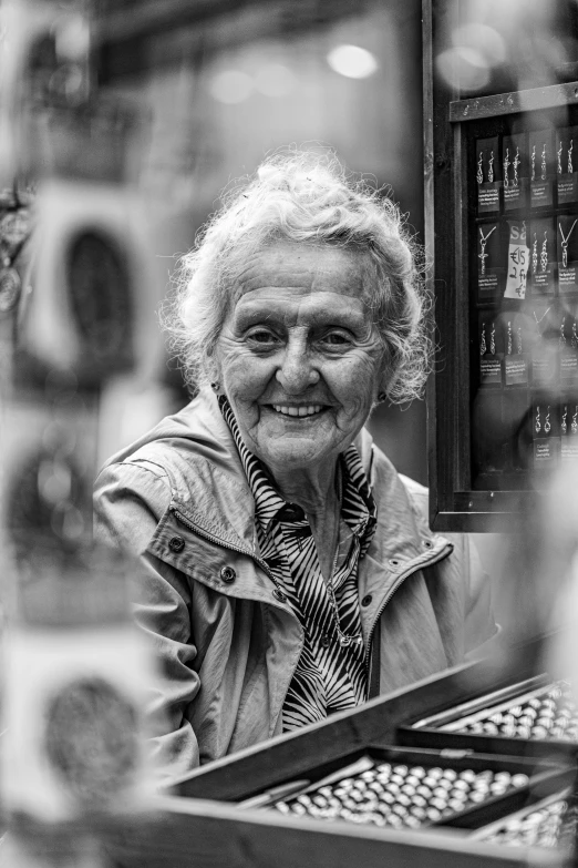
[[[495,474],[495,487],[473,481],[473,142],[507,135],[514,125],[533,131],[578,121],[578,82],[471,99],[443,84],[434,58],[450,48],[458,9],[460,0],[424,0],[425,241],[434,261],[430,290],[440,348],[429,390],[430,521],[442,532],[507,529],[535,498],[529,484],[508,486],[507,473],[502,480]],[[527,400],[531,405],[531,396]]]

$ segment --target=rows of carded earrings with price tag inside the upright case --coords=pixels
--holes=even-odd
[[[474,488],[529,489],[578,458],[575,111],[463,131]]]

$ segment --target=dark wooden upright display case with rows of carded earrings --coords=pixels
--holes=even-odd
[[[472,8],[424,3],[426,247],[438,345],[430,487],[440,531],[503,529],[578,456],[577,67],[536,73],[539,86],[496,91],[524,78],[514,60],[509,79],[464,91],[455,47],[464,28],[488,23],[472,24]],[[576,10],[561,0],[548,9],[553,41],[556,28],[576,32]]]

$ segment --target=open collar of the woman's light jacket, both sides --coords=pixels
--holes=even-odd
[[[432,537],[389,459],[379,453],[375,460],[373,440],[365,429],[355,446],[378,511],[378,531],[368,558],[394,573],[414,559],[421,565],[424,555],[426,561],[438,558],[447,541]],[[200,392],[111,461],[126,459],[156,459],[165,471],[169,468],[173,509],[210,537],[252,555],[258,552],[255,501],[213,392]]]

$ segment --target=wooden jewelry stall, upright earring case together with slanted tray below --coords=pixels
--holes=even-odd
[[[550,12],[578,33],[571,4]],[[530,517],[578,456],[578,63],[530,75],[503,57],[502,78],[476,80],[467,58],[476,39],[499,54],[498,24],[476,23],[465,0],[425,0],[423,14],[440,357],[431,524],[522,527],[537,560],[550,543]],[[539,582],[515,572],[513,595]],[[464,664],[190,774],[166,798],[166,831],[124,841],[122,864],[166,864],[169,848],[174,866],[569,865],[578,718],[535,626],[507,661]]]

